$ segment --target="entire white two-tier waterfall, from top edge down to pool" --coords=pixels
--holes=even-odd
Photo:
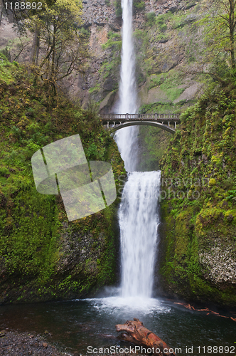
[[[132,0],[122,0],[122,66],[117,113],[136,113],[138,108],[135,55],[132,41]],[[115,140],[129,172],[119,208],[122,245],[121,296],[151,298],[159,216],[160,172],[133,172],[137,166],[138,127],[125,127]],[[133,303],[133,302],[132,302]],[[143,303],[143,302],[141,302]]]

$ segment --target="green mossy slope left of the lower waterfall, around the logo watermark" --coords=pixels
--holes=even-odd
[[[6,63],[4,73],[11,66]],[[14,67],[14,85],[2,80],[0,85],[0,274],[1,281],[4,276],[9,283],[8,296],[4,294],[6,285],[0,283],[0,294],[5,295],[1,302],[75,298],[114,282],[112,231],[117,203],[68,223],[61,197],[36,191],[31,157],[41,147],[79,133],[87,159],[112,159],[117,184],[124,164],[109,133],[102,129],[97,103],[82,110],[60,97],[54,108],[46,88],[41,83],[33,84],[25,69]],[[73,239],[80,240],[80,248],[86,234],[93,244],[100,241],[100,263],[91,246],[87,251],[90,263],[81,261],[77,265],[76,257],[73,271],[63,270],[67,253],[73,255],[72,245],[77,246]],[[66,246],[71,246],[69,252]],[[56,271],[60,271],[58,275]]]

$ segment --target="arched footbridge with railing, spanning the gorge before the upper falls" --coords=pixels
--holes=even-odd
[[[174,134],[180,123],[179,114],[102,114],[102,125],[109,131],[117,131],[133,125],[151,125]]]

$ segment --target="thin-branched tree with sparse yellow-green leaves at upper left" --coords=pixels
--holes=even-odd
[[[43,11],[24,20],[26,28],[34,33],[31,61],[34,73],[53,87],[58,81],[81,70],[87,56],[86,36],[80,31],[82,23],[81,0],[43,2]],[[41,46],[38,54],[39,43]]]

